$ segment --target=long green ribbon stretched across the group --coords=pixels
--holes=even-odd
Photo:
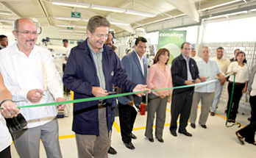
[[[232,73],[226,75],[230,76],[232,75]],[[182,86],[177,86],[177,87],[168,87],[168,88],[163,88],[163,89],[157,89],[157,90],[172,90],[172,89],[179,89],[179,88],[185,88],[185,87],[193,87],[193,86],[199,86],[199,85],[206,85],[209,83],[213,83],[216,82],[218,79],[213,79],[207,82],[200,82],[197,84],[193,84],[193,85],[182,85]],[[157,91],[157,90],[151,90],[152,92]],[[26,105],[26,106],[21,106],[21,107],[17,107],[18,109],[21,108],[28,108],[28,107],[46,107],[46,106],[52,106],[52,105],[58,105],[58,104],[71,104],[71,103],[81,103],[81,102],[86,102],[86,101],[96,101],[96,100],[100,100],[100,99],[107,99],[107,98],[115,98],[115,97],[120,97],[120,96],[129,96],[132,94],[137,94],[137,93],[146,93],[146,90],[143,91],[138,91],[138,92],[130,92],[130,93],[121,93],[121,94],[115,94],[115,95],[109,95],[109,96],[98,96],[98,97],[91,97],[91,98],[79,98],[76,100],[71,100],[71,101],[59,101],[59,102],[51,102],[51,103],[44,103],[44,104],[34,104],[34,105]],[[3,109],[3,108],[0,108]]]

